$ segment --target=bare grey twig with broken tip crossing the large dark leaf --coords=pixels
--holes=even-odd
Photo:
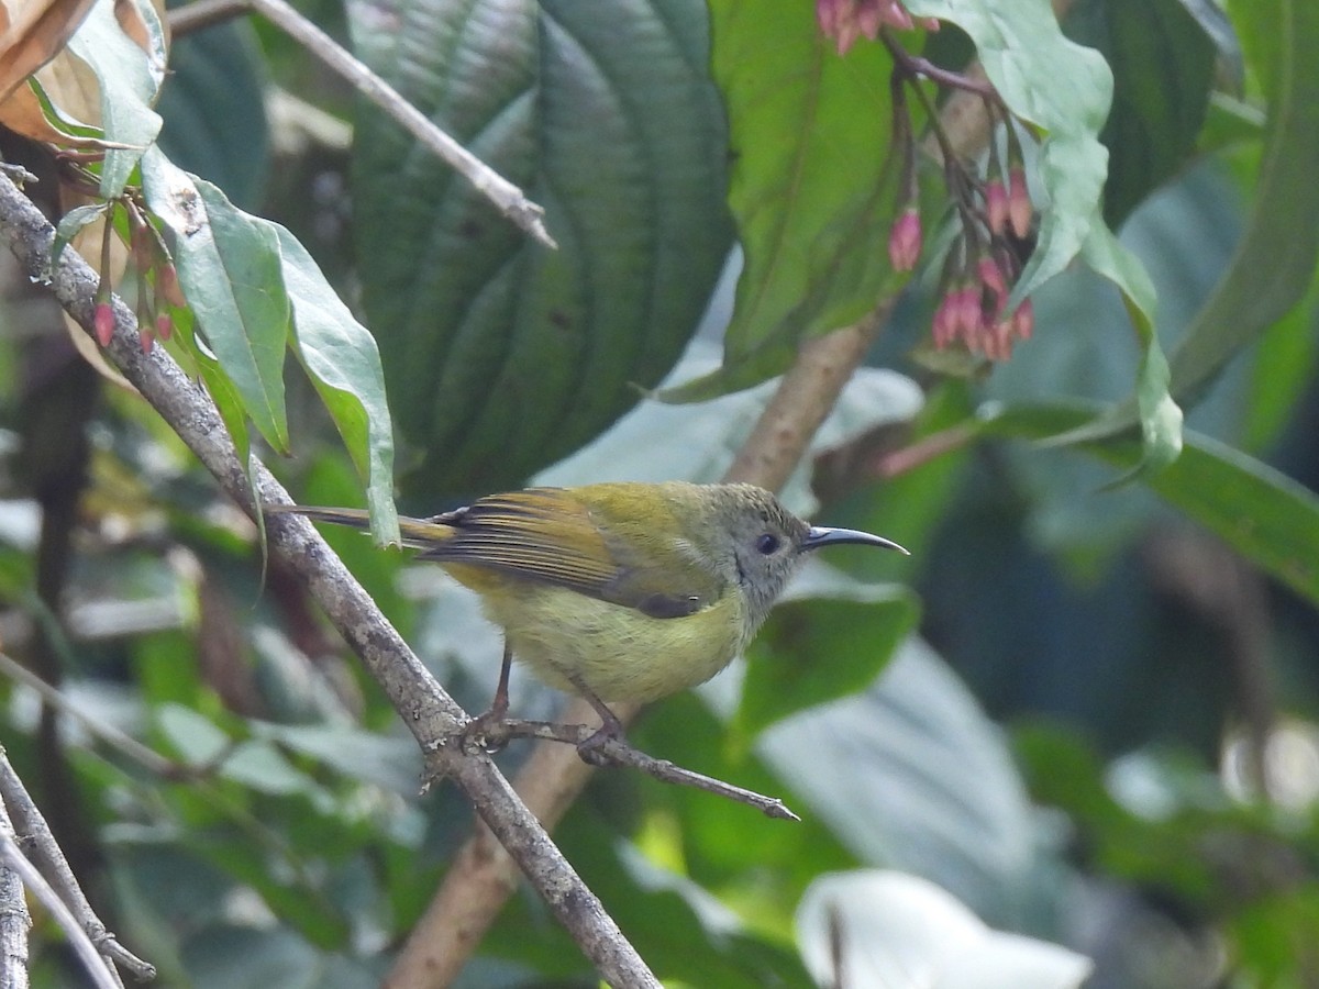
[[[550,248],[554,237],[545,229],[545,210],[526,198],[521,189],[495,171],[445,131],[426,119],[389,83],[364,62],[353,58],[334,38],[298,13],[284,0],[199,0],[170,12],[175,33],[197,30],[239,13],[255,11],[301,44],[331,70],[347,79],[363,96],[389,113],[434,152],[441,161],[472,183],[504,216]]]

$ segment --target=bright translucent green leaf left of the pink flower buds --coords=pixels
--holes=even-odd
[[[814,5],[795,0],[712,0],[710,17],[745,266],[723,368],[666,390],[673,401],[782,372],[803,338],[855,322],[898,284],[888,51],[861,44],[840,58]]]

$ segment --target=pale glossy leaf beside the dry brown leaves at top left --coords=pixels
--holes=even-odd
[[[146,29],[150,51],[142,51],[119,26],[112,3],[94,4],[69,40],[69,50],[87,63],[100,83],[106,140],[124,145],[106,152],[100,171],[100,194],[106,199],[124,191],[128,177],[161,129],[161,117],[152,104],[165,76],[165,32],[152,4],[131,0],[129,7]]]

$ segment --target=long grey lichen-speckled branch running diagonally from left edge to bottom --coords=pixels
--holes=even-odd
[[[0,240],[30,278],[49,281],[65,310],[91,332],[96,273],[74,251],[65,251],[58,268],[50,272],[54,235],[36,206],[7,177],[0,177]],[[115,332],[106,353],[223,491],[252,516],[256,514],[253,489],[261,504],[293,504],[262,464],[256,463],[249,471],[239,460],[215,404],[189,380],[165,348],[154,347],[142,353],[136,319],[123,301],[115,298],[112,309]],[[430,753],[430,767],[452,777],[600,976],[616,986],[658,989],[654,974],[493,762],[484,754],[442,745],[470,720],[467,713],[413,654],[310,522],[295,516],[277,516],[266,520],[265,527],[272,556],[306,583],[422,750]]]

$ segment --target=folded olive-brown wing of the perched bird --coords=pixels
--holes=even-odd
[[[723,589],[679,541],[620,524],[566,488],[491,494],[429,522],[452,534],[422,559],[565,587],[657,618],[692,614]]]

